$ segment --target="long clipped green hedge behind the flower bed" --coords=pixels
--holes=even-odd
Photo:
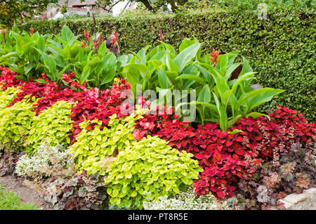
[[[185,38],[196,37],[203,42],[203,51],[211,48],[241,51],[251,67],[258,72],[257,83],[286,92],[277,95],[272,104],[287,106],[305,114],[315,123],[315,13],[269,11],[268,20],[261,20],[255,11],[206,11],[174,15],[124,15],[97,19],[99,32],[108,37],[114,27],[119,32],[121,53],[138,51],[146,45],[156,45],[159,30],[164,41],[178,46]],[[84,29],[93,34],[91,18],[77,20],[33,20],[23,25],[42,34],[58,33],[63,25],[83,37]],[[270,109],[267,103],[262,112]]]

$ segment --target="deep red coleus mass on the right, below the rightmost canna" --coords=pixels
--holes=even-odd
[[[239,119],[228,131],[221,131],[213,123],[199,125],[195,131],[173,121],[157,134],[168,140],[171,147],[192,152],[199,160],[204,171],[195,181],[197,195],[211,190],[220,198],[229,198],[234,195],[237,182],[251,180],[261,163],[277,163],[279,153],[289,152],[297,140],[305,144],[315,141],[315,125],[306,124],[296,111],[280,107],[270,115],[276,119]],[[291,119],[296,122],[291,123]],[[230,133],[235,129],[239,131]]]

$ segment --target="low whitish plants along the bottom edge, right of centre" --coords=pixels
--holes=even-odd
[[[168,198],[166,195],[158,197],[159,201],[143,202],[145,210],[217,210],[228,209],[225,203],[216,202],[216,197],[208,195],[195,195],[195,188],[189,187],[186,192]]]

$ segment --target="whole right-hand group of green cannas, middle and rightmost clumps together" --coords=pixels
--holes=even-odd
[[[121,72],[130,82],[131,91],[136,95],[139,84],[142,91],[154,89],[159,91],[159,95],[178,91],[178,97],[183,98],[182,91],[192,94],[194,90],[197,100],[180,105],[197,105],[195,121],[199,123],[219,121],[220,129],[226,131],[237,119],[282,93],[280,89],[251,88],[255,72],[247,60],[235,62],[238,51],[219,55],[213,50],[211,56],[202,56],[201,44],[196,39],[183,40],[178,55],[173,46],[163,42],[146,54],[147,48],[138,51]],[[169,103],[180,112],[180,105],[176,105],[176,99],[174,101],[171,99]],[[261,115],[258,112],[249,114],[252,117]]]

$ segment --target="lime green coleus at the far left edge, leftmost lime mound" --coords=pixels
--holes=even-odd
[[[0,143],[5,150],[22,150],[35,117],[33,105],[37,100],[30,95],[11,107],[0,110]]]

